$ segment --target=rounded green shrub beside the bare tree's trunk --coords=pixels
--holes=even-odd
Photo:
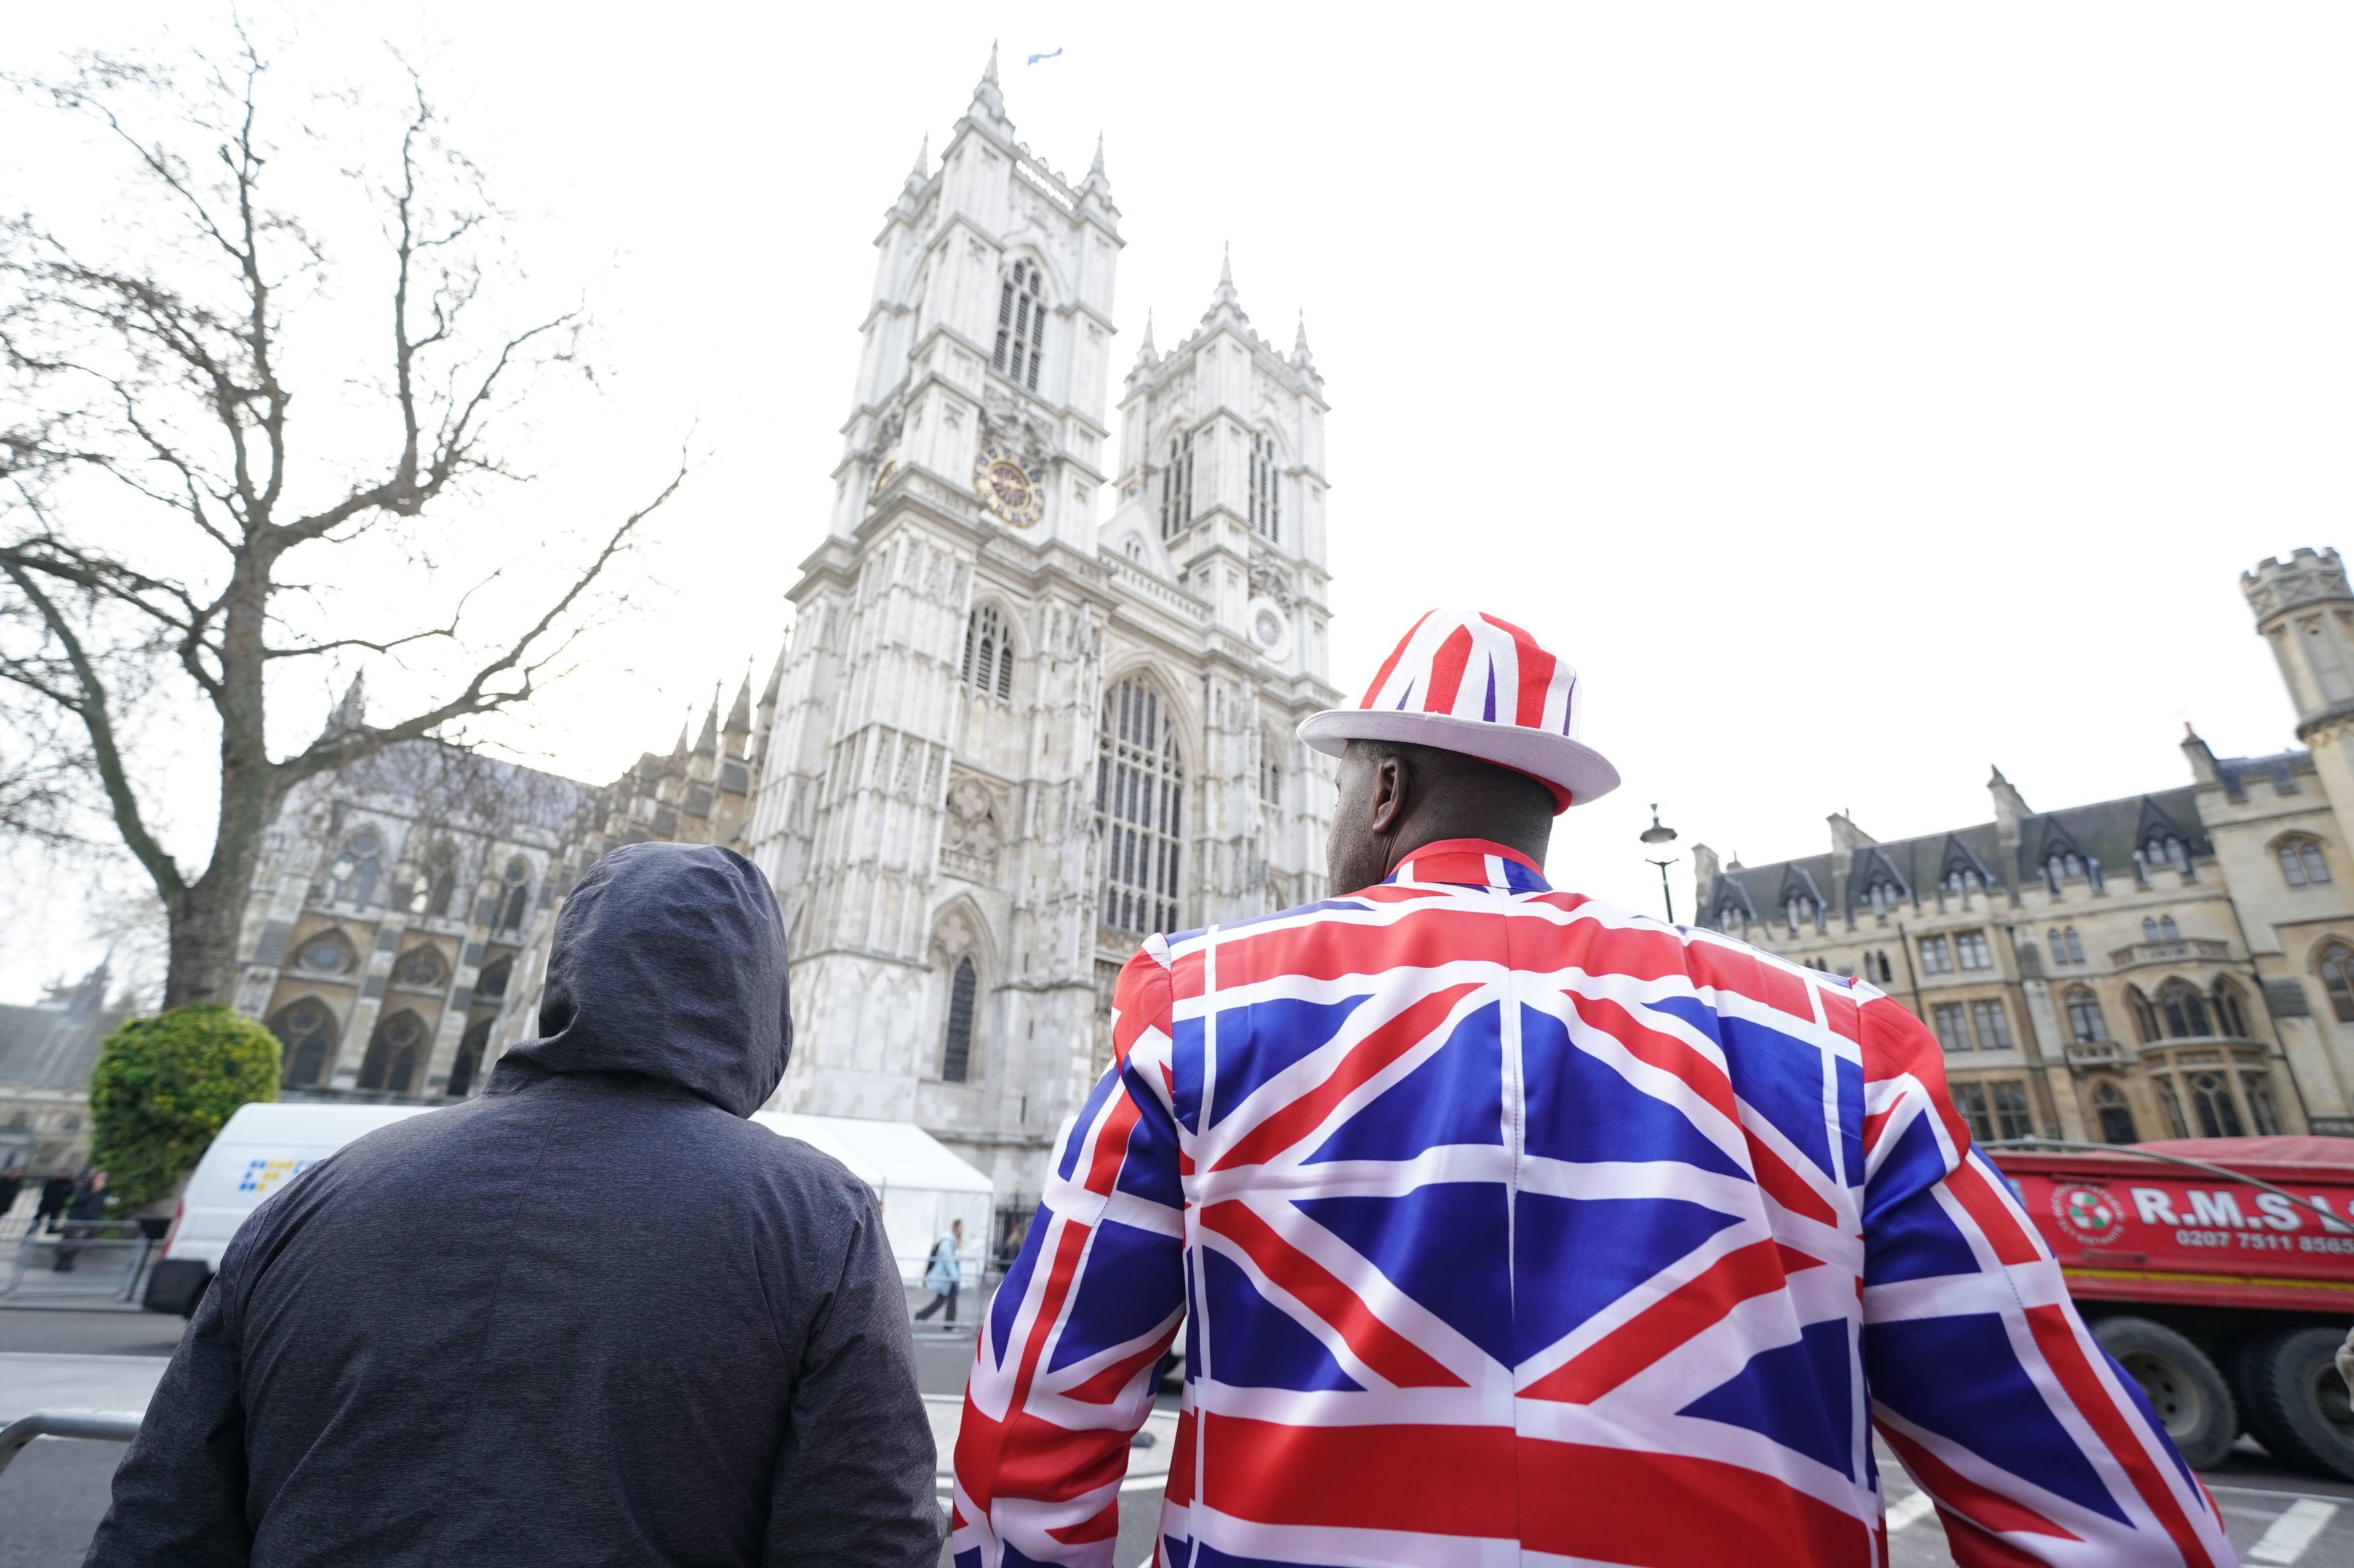
[[[108,1034],[89,1072],[89,1161],[115,1213],[169,1197],[231,1112],[275,1098],[278,1037],[219,1001]]]

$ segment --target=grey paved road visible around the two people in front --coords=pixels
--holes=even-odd
[[[965,1335],[923,1335],[916,1342],[916,1375],[930,1396],[935,1429],[953,1432],[956,1394],[972,1361],[975,1305],[965,1302]],[[0,1415],[7,1389],[35,1382],[42,1396],[59,1394],[59,1378],[80,1375],[94,1396],[127,1399],[153,1378],[151,1356],[167,1356],[179,1338],[177,1319],[120,1312],[7,1312],[0,1309]],[[129,1361],[108,1361],[129,1359]],[[85,1403],[94,1403],[85,1401]],[[1172,1401],[1163,1401],[1172,1403]],[[1121,1497],[1116,1568],[1151,1559],[1161,1488],[1149,1472],[1165,1472],[1170,1415],[1153,1420],[1156,1446],[1135,1450],[1132,1486]],[[115,1443],[68,1443],[42,1439],[0,1476],[0,1568],[73,1568],[82,1561],[89,1530],[106,1512],[106,1486],[122,1450]],[[1888,1476],[1890,1568],[1944,1568],[1954,1559],[1944,1528],[1926,1500],[1914,1500],[1904,1472],[1881,1450]],[[2232,1540],[2248,1563],[2298,1568],[2354,1568],[2354,1483],[2321,1481],[2274,1467],[2260,1448],[2241,1443],[2222,1467],[2206,1472],[2208,1490],[2225,1512]],[[946,1554],[942,1554],[946,1563]]]

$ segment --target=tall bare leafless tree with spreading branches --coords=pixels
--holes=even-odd
[[[242,33],[224,61],[92,56],[71,78],[16,80],[87,118],[151,197],[141,212],[155,214],[125,219],[106,244],[71,244],[31,216],[0,221],[0,374],[21,411],[0,416],[19,418],[0,428],[0,689],[71,719],[78,745],[28,759],[19,788],[38,806],[59,769],[87,766],[113,835],[162,898],[167,1006],[228,999],[247,884],[287,790],[530,698],[596,618],[610,592],[600,578],[685,477],[680,456],[659,494],[494,635],[466,618],[468,599],[438,625],[365,637],[327,635],[301,614],[339,562],[351,569],[355,541],[428,567],[419,520],[516,477],[494,423],[548,371],[577,367],[577,310],[478,331],[501,214],[476,167],[443,143],[414,73],[407,85],[398,139],[384,139],[388,174],[353,174],[381,244],[339,268],[282,205],[282,181],[271,183],[280,146],[268,61]],[[146,129],[148,108],[165,129]],[[370,277],[388,284],[379,360],[339,360],[315,334],[297,336],[330,282],[365,289]],[[294,421],[294,364],[313,367],[301,407],[348,407],[348,388],[372,388],[363,418]],[[297,562],[304,576],[290,574]],[[398,595],[370,599],[381,609]],[[431,646],[459,651],[447,696],[391,724],[339,710],[308,745],[271,755],[268,698],[294,661]],[[193,686],[219,724],[219,813],[202,870],[165,849],[155,780],[137,776],[125,729],[132,693],[158,677]]]

